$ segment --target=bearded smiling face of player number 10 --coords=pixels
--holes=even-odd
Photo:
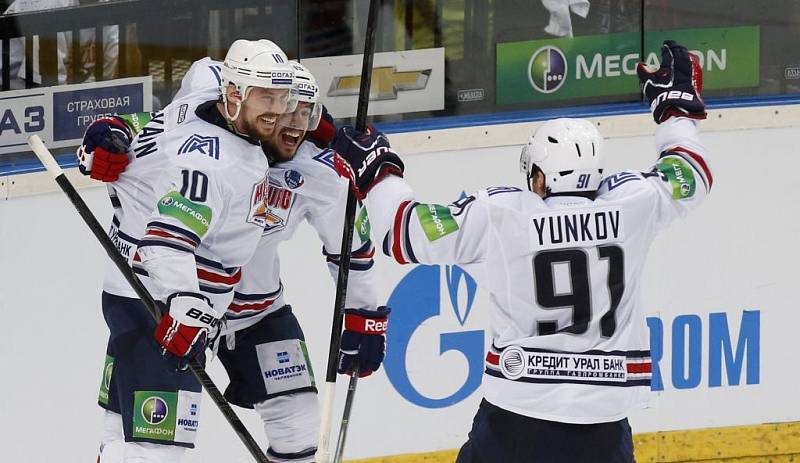
[[[275,132],[278,116],[289,106],[289,90],[252,87],[242,103],[238,130],[250,138],[267,140]]]

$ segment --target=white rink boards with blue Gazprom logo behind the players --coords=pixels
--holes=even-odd
[[[634,432],[800,421],[793,368],[798,128],[703,133],[713,155],[708,201],[654,244],[642,280],[654,372]],[[519,146],[407,156],[420,200],[521,186]],[[757,154],[754,154],[757,153]],[[609,172],[646,169],[652,137],[606,143]],[[778,166],[778,167],[775,167]],[[82,191],[101,222],[102,188]],[[325,370],[334,284],[320,243],[301,227],[281,248],[287,300]],[[101,250],[61,193],[0,201],[0,460],[92,461],[107,330]],[[380,302],[393,307],[386,363],[359,382],[347,458],[459,447],[480,401],[487,295],[458,267],[400,267],[376,256]],[[209,366],[218,385],[227,378]],[[346,381],[339,381],[340,416]],[[237,409],[263,442],[255,413]],[[210,401],[186,462],[251,461]],[[337,420],[338,422],[338,420]],[[46,436],[47,445],[41,445]]]

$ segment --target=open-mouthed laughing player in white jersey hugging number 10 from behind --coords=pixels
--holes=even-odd
[[[333,152],[306,140],[309,133],[324,143],[325,134],[332,130],[320,127],[330,122],[323,119],[314,76],[299,63],[291,64],[297,107],[282,114],[272,136],[262,141],[271,164],[263,237],[242,268],[216,350],[231,380],[225,396],[235,405],[254,408],[262,417],[270,460],[310,462],[319,428],[317,391],[303,331],[284,300],[277,248],[300,223],[308,221],[322,240],[322,252],[335,278],[348,184],[333,168]],[[210,58],[194,62],[174,101],[191,107],[192,101],[215,98],[221,66]],[[191,117],[192,111],[187,113]],[[376,310],[373,254],[366,211],[359,209],[348,279],[342,373],[350,373],[356,357],[362,376],[378,369],[383,360],[388,309]],[[380,330],[367,330],[367,320],[384,323],[377,324]]]

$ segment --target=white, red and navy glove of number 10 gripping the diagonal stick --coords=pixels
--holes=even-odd
[[[165,356],[178,357],[179,368],[203,352],[212,332],[219,327],[219,315],[211,301],[197,293],[175,293],[167,299],[169,311],[161,317],[155,338]]]

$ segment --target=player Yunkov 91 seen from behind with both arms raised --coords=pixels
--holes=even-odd
[[[382,134],[337,134],[337,170],[366,195],[384,252],[471,264],[490,294],[484,400],[459,463],[634,461],[626,415],[651,377],[640,275],[655,236],[712,183],[694,57],[667,41],[661,68],[639,76],[658,159],[602,182],[602,139],[585,120],[549,121],[531,137],[521,156],[530,191],[487,188],[449,206],[414,199]]]

